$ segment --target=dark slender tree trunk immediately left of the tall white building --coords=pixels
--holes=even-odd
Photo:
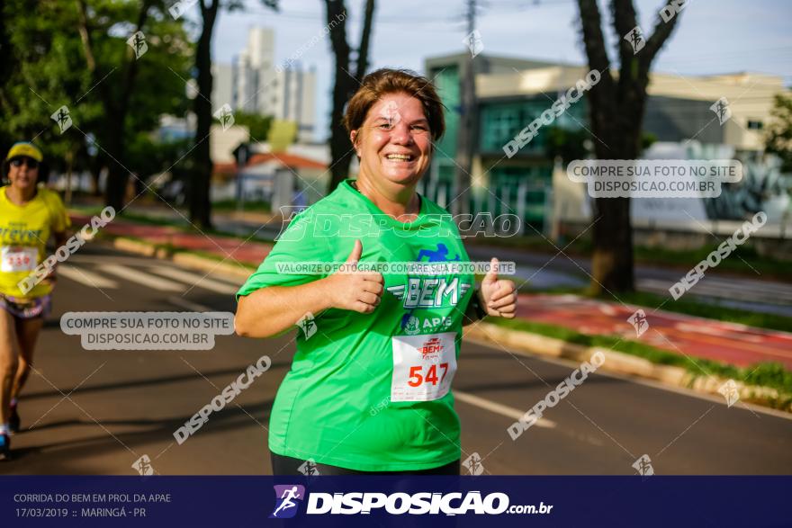
[[[195,50],[195,68],[198,71],[198,95],[193,99],[196,117],[193,149],[193,178],[190,180],[188,199],[190,221],[201,229],[211,229],[211,33],[219,8],[218,0],[208,6],[200,2],[203,19],[201,37]]]

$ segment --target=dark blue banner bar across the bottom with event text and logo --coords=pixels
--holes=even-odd
[[[2,526],[790,526],[792,477],[0,477]]]

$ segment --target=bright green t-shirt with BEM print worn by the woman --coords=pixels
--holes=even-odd
[[[356,238],[361,264],[469,262],[446,210],[421,197],[418,218],[401,223],[349,182],[292,220],[238,295],[327,277],[278,273],[277,264],[343,263]],[[373,313],[327,309],[298,332],[270,418],[272,452],[365,471],[423,470],[460,458],[450,385],[473,273],[409,272],[383,273]]]

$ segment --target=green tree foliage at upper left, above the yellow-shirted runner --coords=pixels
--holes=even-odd
[[[0,146],[32,140],[56,169],[67,160],[94,175],[107,167],[105,198],[120,207],[130,174],[142,177],[149,168],[150,154],[128,147],[155,130],[161,114],[182,115],[187,108],[184,79],[193,45],[184,22],[151,0],[5,0],[0,6]],[[127,44],[135,31],[148,46],[139,58]],[[60,133],[50,115],[62,105],[73,124]]]

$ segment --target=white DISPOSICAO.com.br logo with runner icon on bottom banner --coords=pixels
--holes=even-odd
[[[275,486],[275,510],[270,518],[293,517],[299,503],[305,498],[305,488],[299,485]],[[490,493],[482,496],[481,491],[377,493],[311,492],[307,497],[306,515],[369,515],[372,510],[390,515],[500,515],[500,514],[550,514],[553,506],[541,503],[534,505],[509,505],[505,493]]]

